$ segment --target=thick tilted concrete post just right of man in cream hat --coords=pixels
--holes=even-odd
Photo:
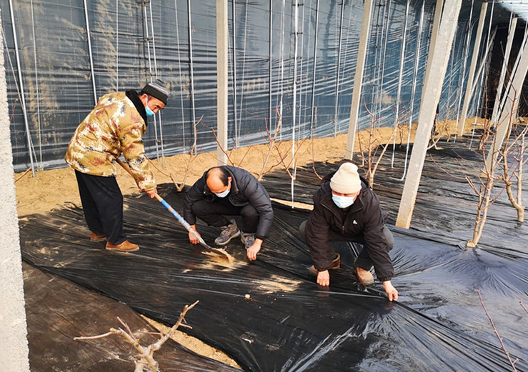
[[[422,169],[424,168],[434,116],[436,115],[440,94],[442,93],[442,85],[444,84],[444,77],[449,62],[449,51],[451,51],[454,33],[457,30],[457,20],[461,5],[462,0],[445,1],[434,53],[427,61],[427,64],[431,66],[428,69],[429,76],[427,81],[424,81],[425,99],[420,106],[416,139],[414,140],[411,160],[409,161],[409,171],[405,179],[402,201],[399,204],[396,221],[396,226],[399,227],[409,228],[411,225],[414,202],[416,201]]]

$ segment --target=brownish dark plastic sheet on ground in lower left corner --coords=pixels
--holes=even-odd
[[[121,327],[124,321],[143,346],[156,342],[157,330],[124,303],[81,288],[23,263],[31,371],[129,372],[133,348],[121,336],[75,341]],[[58,347],[60,345],[60,347]],[[239,371],[198,356],[169,339],[154,353],[161,371]]]

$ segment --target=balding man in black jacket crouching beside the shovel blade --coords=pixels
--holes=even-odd
[[[241,216],[242,232],[236,221],[226,216]],[[194,230],[196,217],[221,227],[220,236],[214,241],[219,246],[241,236],[247,258],[254,261],[272,228],[272,201],[264,186],[248,171],[235,166],[216,166],[206,171],[185,196],[184,218]],[[189,241],[198,243],[192,233]]]

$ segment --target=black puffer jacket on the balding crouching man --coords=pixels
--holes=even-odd
[[[269,199],[266,188],[248,171],[236,166],[222,166],[231,176],[231,191],[227,198],[234,206],[251,204],[259,213],[259,225],[256,226],[255,237],[264,240],[273,223],[272,201]],[[191,211],[192,205],[199,200],[214,201],[216,195],[209,190],[206,184],[206,174],[196,181],[189,189],[184,201],[184,218],[190,225],[196,223],[196,216]]]

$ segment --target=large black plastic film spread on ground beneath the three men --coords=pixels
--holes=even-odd
[[[464,150],[468,141],[440,146],[427,156],[413,228],[389,226],[395,303],[378,281],[367,290],[357,284],[354,250],[344,243],[336,244],[342,268],[332,271],[331,286],[317,286],[297,233],[307,211],[279,204],[255,263],[232,241],[234,265],[221,265],[191,246],[184,228],[144,195],[125,200],[125,228],[141,246],[138,252],[109,253],[104,243],[91,243],[81,209],[72,206],[21,220],[24,260],[167,325],[185,304],[199,300],[186,316],[193,326],[188,332],[245,371],[512,371],[478,290],[512,360],[519,358],[517,371],[528,371],[528,315],[519,304],[528,302],[528,228],[515,222],[502,195],[489,211],[479,247],[461,248],[471,237],[469,203],[476,197],[460,176],[462,170],[476,172],[479,162]],[[397,149],[394,167],[387,158],[376,174],[374,190],[389,222],[399,206],[404,153]],[[337,166],[316,169],[324,174]],[[310,169],[299,171],[299,201],[317,188]],[[280,173],[264,181],[272,197],[284,196],[281,186],[288,181]],[[165,186],[161,195],[181,212],[184,193]],[[202,225],[199,231],[208,242],[218,233]]]

